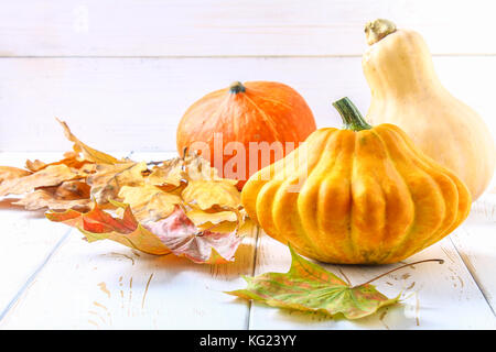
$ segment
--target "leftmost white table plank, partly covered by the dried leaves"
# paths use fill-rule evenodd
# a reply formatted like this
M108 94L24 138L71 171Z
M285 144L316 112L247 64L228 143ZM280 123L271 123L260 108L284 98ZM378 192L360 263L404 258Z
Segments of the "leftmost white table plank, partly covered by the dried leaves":
M26 158L55 161L56 153L0 153L0 165L23 167ZM68 229L50 223L44 211L12 206L13 197L0 197L0 318L22 287L47 260Z

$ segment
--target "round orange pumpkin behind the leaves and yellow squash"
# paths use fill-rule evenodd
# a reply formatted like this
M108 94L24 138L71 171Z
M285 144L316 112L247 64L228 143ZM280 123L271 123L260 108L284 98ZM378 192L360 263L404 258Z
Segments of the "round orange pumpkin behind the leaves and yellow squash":
M237 81L187 109L176 144L181 155L186 147L198 152L222 176L238 179L241 188L251 174L284 157L315 129L312 111L293 88Z

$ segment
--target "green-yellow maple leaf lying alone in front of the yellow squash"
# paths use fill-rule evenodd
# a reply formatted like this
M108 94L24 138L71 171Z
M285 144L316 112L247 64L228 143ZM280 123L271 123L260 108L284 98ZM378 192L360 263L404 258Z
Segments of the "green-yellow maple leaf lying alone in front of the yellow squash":
M330 316L342 314L346 319L364 318L399 300L400 295L388 298L370 284L352 287L333 273L299 256L291 246L290 251L292 261L288 273L244 277L247 288L226 294L272 307Z

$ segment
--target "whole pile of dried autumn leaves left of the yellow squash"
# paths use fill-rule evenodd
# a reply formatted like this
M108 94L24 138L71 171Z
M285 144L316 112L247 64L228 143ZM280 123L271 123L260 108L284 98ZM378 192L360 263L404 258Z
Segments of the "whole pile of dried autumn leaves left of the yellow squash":
M25 169L0 166L0 197L22 195L14 205L48 208L47 219L79 229L88 242L109 239L196 263L234 261L245 222L236 180L187 151L163 162L118 160L58 122L73 151L55 163L26 161Z

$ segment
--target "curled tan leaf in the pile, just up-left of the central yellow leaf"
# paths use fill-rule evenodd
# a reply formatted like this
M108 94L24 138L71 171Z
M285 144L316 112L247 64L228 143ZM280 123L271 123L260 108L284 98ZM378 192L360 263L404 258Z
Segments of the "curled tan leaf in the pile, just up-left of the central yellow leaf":
M141 186L144 183L143 172L148 169L147 163L97 164L95 174L87 177L91 186L91 197L98 204L107 204L116 199L123 186Z

